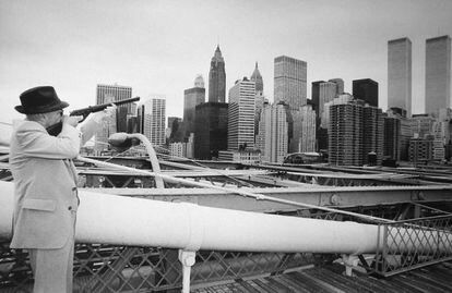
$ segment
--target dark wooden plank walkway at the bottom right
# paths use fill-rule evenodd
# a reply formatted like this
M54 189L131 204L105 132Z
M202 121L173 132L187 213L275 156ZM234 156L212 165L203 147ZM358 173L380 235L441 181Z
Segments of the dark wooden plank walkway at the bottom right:
M330 265L278 276L239 279L226 284L198 288L192 292L452 292L452 263L425 267L385 279L367 274L346 277L343 271L344 267Z

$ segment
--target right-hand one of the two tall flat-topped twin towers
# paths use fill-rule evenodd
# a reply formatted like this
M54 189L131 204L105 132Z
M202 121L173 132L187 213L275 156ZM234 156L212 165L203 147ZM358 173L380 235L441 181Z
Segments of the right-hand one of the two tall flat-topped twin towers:
M451 38L426 40L426 112L451 108Z

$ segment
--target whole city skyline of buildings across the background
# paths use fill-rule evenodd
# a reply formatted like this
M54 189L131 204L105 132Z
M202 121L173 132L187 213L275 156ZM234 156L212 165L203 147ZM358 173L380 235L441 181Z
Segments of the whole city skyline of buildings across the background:
M183 91L183 118L168 117L165 125L163 96L121 106L97 133L95 151L108 151L107 137L115 132L138 132L173 158L282 163L294 155L311 154L341 166L450 160L449 36L426 40L425 114L412 113L407 37L388 41L385 112L379 108L379 85L371 78L354 80L353 93L344 91L342 78L312 82L308 99L307 66L302 60L276 57L270 103L258 63L250 78L239 78L226 90L225 60L217 46L209 91L198 75L194 86ZM128 86L97 85L97 103L131 96Z

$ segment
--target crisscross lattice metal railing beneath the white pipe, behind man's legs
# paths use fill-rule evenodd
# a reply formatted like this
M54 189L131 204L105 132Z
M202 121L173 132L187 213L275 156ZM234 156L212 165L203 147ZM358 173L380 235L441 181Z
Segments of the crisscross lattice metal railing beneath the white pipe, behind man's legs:
M200 251L191 284L235 280L312 264L311 254ZM316 260L318 261L318 260ZM180 291L182 265L177 249L102 244L76 244L73 292ZM0 292L32 292L28 254L0 243Z

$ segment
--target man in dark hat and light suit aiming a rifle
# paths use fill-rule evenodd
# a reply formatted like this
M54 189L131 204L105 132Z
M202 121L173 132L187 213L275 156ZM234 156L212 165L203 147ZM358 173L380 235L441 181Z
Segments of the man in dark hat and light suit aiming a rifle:
M75 216L79 206L76 170L72 162L108 113L68 117L53 87L38 86L20 96L15 109L25 114L13 125L10 166L14 178L11 248L26 248L35 278L33 292L72 292ZM111 110L110 110L111 111ZM62 123L57 136L46 129Z

